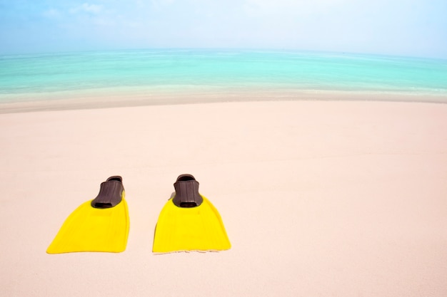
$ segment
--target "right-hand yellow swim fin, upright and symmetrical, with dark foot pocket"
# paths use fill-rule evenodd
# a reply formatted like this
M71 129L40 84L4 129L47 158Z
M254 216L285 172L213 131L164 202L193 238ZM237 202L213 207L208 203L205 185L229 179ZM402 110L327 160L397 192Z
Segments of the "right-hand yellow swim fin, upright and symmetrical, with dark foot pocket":
M154 253L221 251L231 248L217 209L199 194L199 182L182 174L174 183L176 194L161 210L156 225Z

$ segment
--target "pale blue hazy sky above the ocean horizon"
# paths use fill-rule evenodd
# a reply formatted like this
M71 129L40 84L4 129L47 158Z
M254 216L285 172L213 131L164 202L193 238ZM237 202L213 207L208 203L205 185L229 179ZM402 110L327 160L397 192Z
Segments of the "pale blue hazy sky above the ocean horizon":
M447 58L447 1L0 0L0 53L128 48Z

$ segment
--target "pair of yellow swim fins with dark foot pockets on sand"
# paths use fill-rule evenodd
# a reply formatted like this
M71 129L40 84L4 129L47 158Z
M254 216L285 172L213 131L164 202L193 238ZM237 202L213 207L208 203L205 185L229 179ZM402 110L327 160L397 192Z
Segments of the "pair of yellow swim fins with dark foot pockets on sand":
M221 216L213 204L199 194L199 182L191 174L181 174L174 188L174 197L161 209L152 251L230 249ZM95 199L81 204L70 214L46 252L124 251L129 236L129 211L124 198L122 178L109 177L101 183Z

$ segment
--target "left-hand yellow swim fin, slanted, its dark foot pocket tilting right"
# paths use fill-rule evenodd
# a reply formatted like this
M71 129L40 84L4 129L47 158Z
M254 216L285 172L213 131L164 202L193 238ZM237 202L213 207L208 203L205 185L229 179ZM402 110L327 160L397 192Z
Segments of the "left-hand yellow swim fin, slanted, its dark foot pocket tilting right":
M129 212L122 181L114 176L103 182L95 199L81 204L69 215L46 252L124 251Z

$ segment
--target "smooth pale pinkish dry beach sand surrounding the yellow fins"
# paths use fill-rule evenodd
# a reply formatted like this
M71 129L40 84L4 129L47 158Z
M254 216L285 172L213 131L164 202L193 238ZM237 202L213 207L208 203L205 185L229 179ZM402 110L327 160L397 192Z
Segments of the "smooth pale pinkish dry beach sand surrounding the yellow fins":
M0 115L1 296L447 296L447 104L295 101ZM182 173L232 249L151 252ZM46 254L111 175L120 254Z

